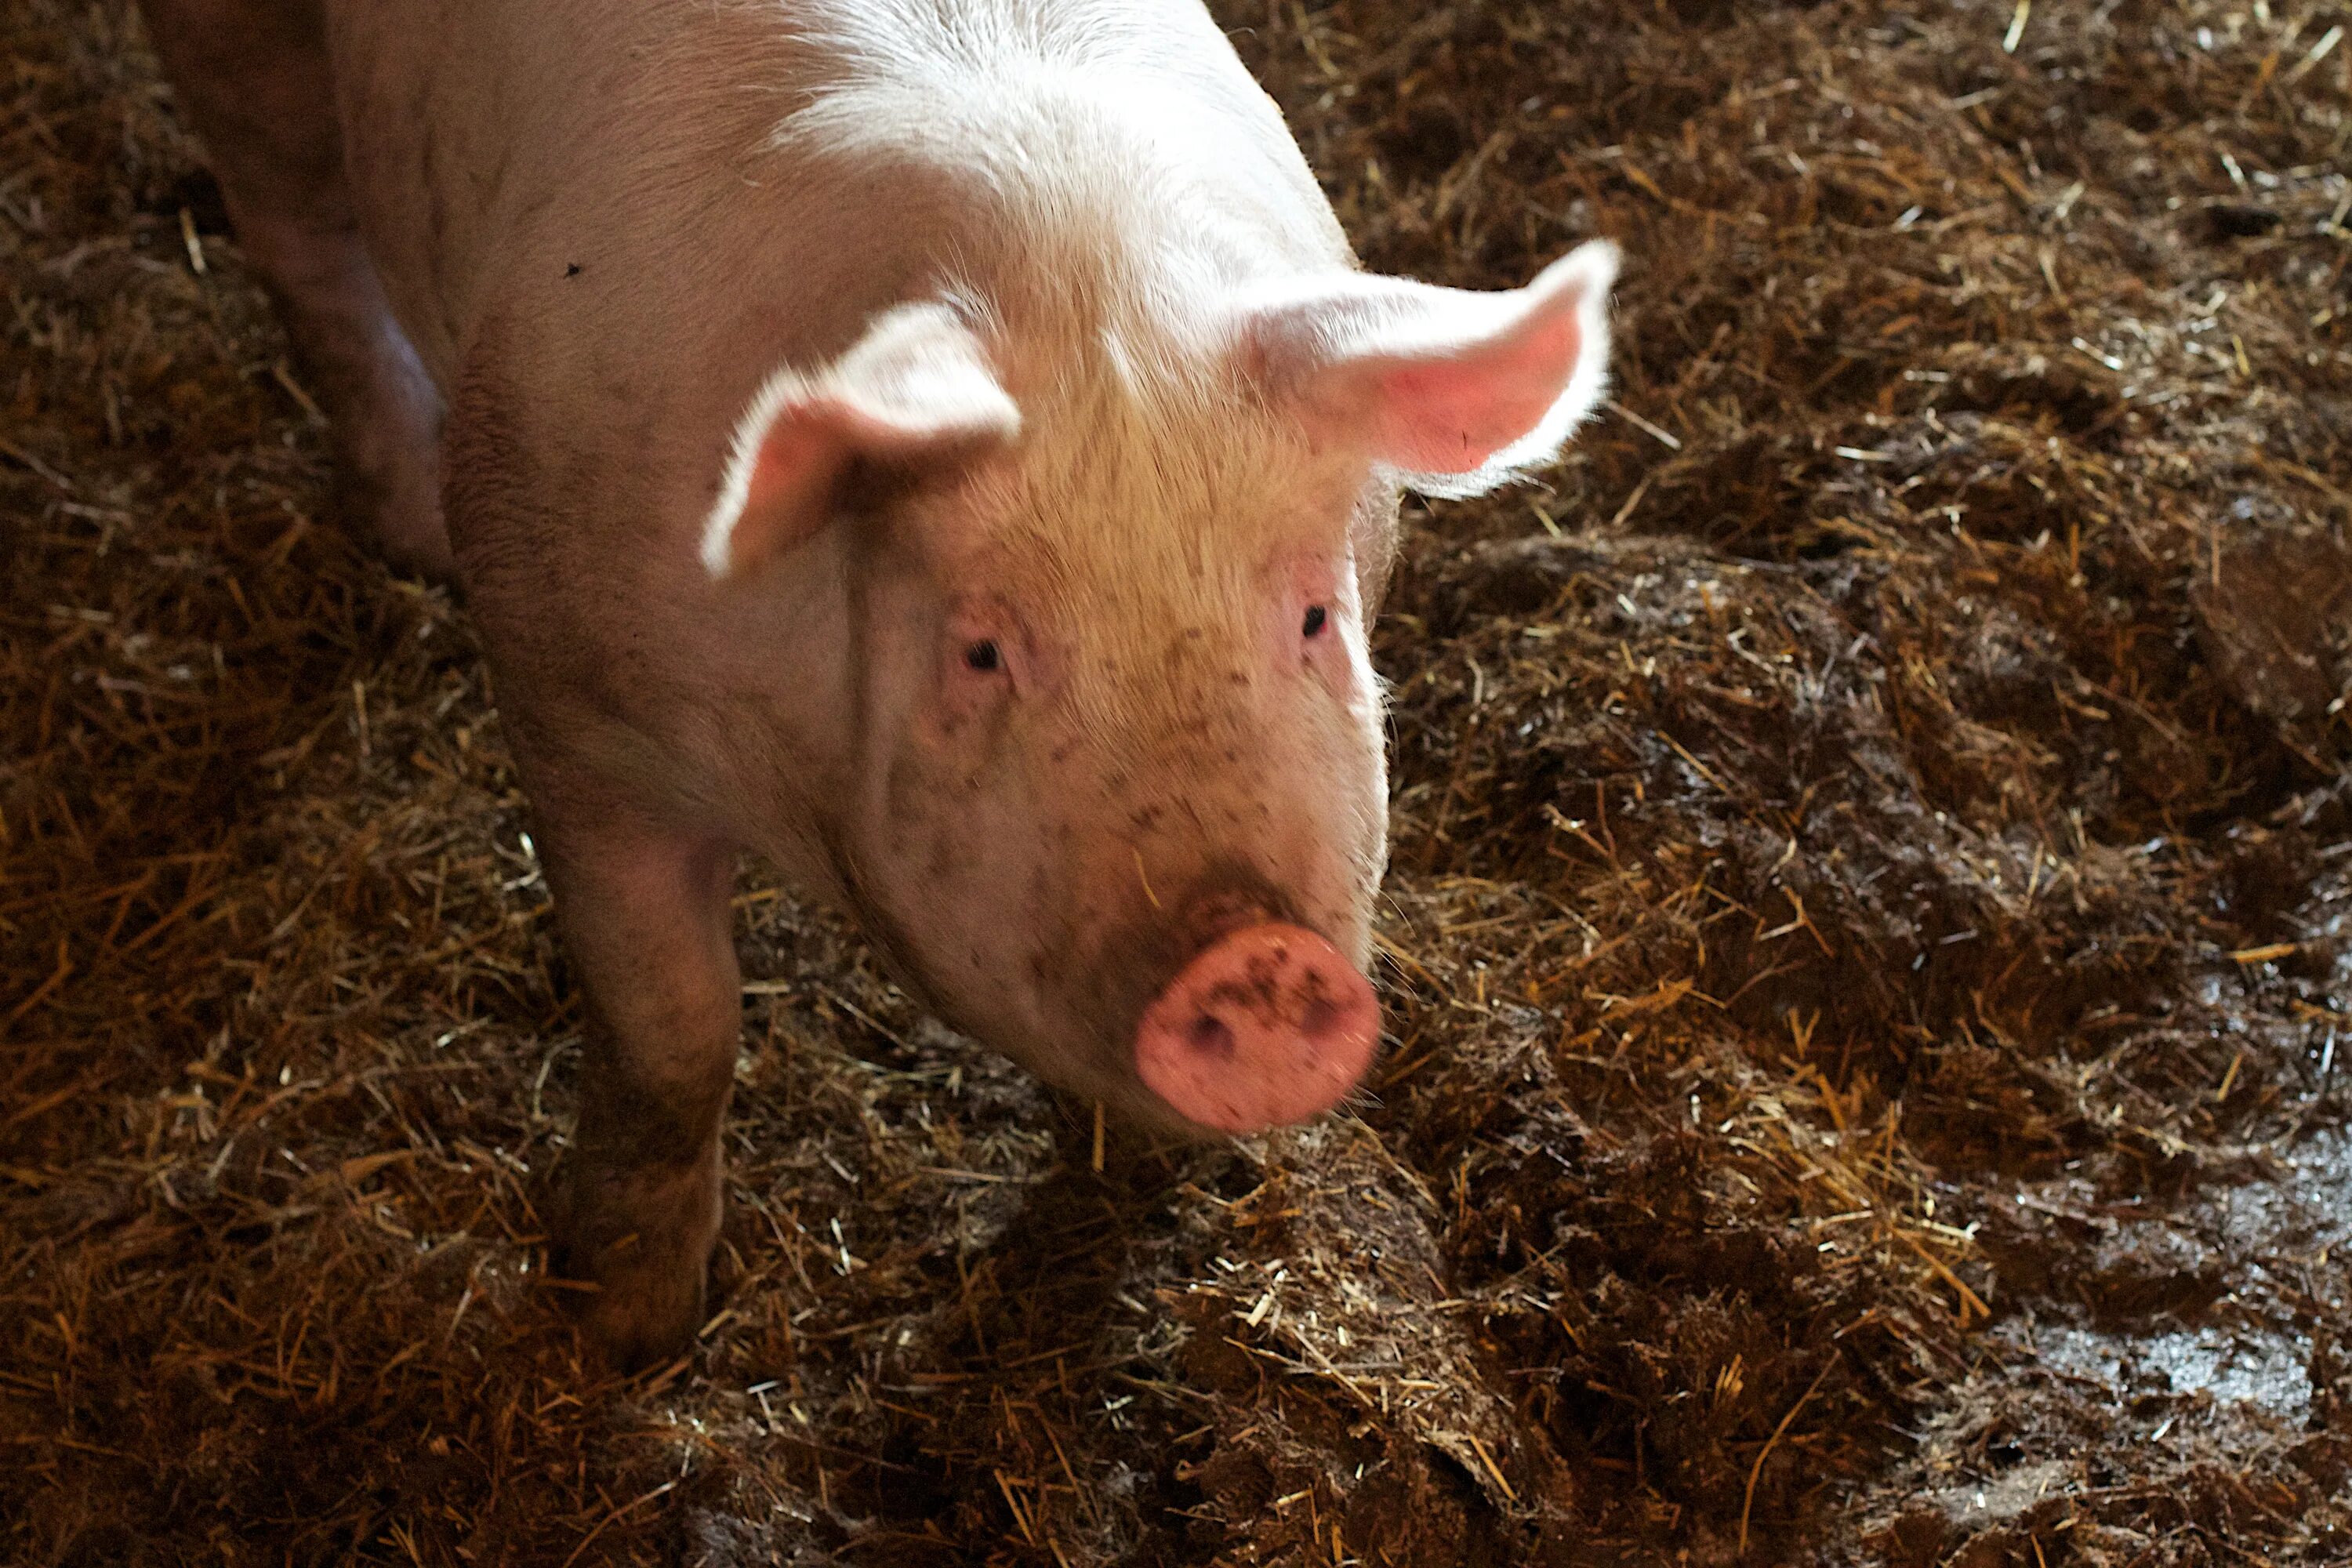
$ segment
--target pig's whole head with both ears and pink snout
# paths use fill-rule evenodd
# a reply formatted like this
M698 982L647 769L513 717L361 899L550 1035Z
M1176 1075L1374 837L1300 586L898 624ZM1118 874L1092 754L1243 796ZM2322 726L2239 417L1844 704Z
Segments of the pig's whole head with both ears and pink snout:
M1348 1095L1381 1032L1367 632L1397 491L1559 447L1599 400L1613 266L1338 275L1185 331L922 301L769 381L703 559L724 592L793 557L840 578L814 842L917 994L1164 1128Z

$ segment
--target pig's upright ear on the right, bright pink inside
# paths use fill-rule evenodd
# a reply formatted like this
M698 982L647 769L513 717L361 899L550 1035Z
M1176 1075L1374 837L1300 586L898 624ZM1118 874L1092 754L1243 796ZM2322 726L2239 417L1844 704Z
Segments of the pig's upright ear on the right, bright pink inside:
M1501 294L1327 282L1247 306L1244 362L1317 447L1475 496L1559 451L1602 400L1616 266L1595 240Z

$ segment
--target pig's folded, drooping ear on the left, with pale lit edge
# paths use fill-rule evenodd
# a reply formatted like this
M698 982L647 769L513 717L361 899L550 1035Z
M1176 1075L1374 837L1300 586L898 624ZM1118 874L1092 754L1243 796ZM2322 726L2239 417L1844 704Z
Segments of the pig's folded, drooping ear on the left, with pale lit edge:
M743 576L816 534L854 463L934 468L1018 430L1021 409L955 310L887 310L833 364L781 369L753 397L703 524L703 567Z

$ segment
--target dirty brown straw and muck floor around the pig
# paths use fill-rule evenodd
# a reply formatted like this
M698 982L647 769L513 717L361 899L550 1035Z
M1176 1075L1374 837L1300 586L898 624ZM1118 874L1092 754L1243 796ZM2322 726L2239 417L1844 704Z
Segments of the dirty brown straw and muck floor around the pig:
M1395 1039L1152 1152L748 870L720 1312L120 0L0 12L9 1563L2352 1559L2352 12L1235 0L1367 261L1625 244L1411 515Z

